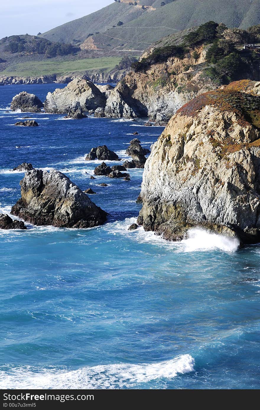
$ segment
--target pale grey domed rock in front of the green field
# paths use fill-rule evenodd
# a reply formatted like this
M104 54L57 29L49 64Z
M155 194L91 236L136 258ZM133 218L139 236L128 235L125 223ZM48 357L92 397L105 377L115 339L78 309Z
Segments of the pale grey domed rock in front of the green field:
M64 114L75 103L79 103L83 111L95 110L105 107L106 97L92 82L77 77L65 88L57 88L53 93L47 93L44 107L46 112Z

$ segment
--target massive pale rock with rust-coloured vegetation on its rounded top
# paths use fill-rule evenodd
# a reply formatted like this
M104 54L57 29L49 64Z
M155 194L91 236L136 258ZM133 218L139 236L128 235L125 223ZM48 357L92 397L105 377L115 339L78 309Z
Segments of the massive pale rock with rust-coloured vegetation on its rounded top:
M192 226L260 241L260 96L204 93L179 109L145 164L138 223L179 240Z

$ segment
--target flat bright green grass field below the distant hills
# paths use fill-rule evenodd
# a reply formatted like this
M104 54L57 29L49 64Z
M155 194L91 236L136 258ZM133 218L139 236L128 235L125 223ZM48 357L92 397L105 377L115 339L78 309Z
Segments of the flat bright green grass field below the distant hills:
M84 74L93 71L107 73L120 62L122 57L100 57L86 58L75 61L34 61L27 63L13 64L4 71L0 71L0 76L10 77L40 77L41 75L60 74Z

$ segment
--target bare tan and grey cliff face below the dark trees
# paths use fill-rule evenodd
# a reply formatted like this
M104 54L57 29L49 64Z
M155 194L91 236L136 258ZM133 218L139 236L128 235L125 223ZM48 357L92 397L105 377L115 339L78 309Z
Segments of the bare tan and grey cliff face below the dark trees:
M187 101L217 88L213 81L201 77L201 64L205 62L206 50L207 47L197 47L194 50L197 53L196 60L187 53L182 59L170 57L164 63L153 64L145 72L128 73L111 95L114 109L110 110L110 116L125 116L118 109L123 100L127 101L137 116L168 121ZM121 100L118 96L115 97L117 91L122 97Z

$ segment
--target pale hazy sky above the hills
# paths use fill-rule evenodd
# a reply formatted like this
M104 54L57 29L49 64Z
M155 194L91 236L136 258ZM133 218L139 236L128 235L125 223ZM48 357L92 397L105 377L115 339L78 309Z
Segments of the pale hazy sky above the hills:
M86 16L113 0L4 0L0 7L0 39L37 34Z

